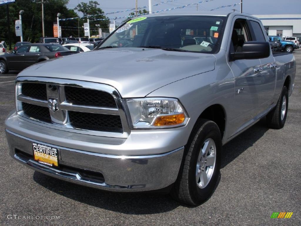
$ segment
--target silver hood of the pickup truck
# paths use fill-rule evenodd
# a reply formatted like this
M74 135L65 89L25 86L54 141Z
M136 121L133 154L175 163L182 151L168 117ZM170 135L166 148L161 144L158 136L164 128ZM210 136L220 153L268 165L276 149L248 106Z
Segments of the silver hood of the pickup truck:
M18 77L64 78L104 83L123 98L144 97L155 89L214 70L212 54L162 49L116 48L78 53L34 64ZM200 76L200 75L199 75Z

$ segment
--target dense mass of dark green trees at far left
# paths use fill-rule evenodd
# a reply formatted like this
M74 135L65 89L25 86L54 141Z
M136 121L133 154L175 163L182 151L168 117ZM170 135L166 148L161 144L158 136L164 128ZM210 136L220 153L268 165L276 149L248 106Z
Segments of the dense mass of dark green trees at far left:
M44 24L45 35L53 36L53 22L56 21L58 12L62 14L60 18L78 17L73 9L67 8L68 0L48 0L44 2ZM22 15L23 40L38 42L42 37L42 6L40 0L18 0L9 4L9 17L11 30L11 42L20 41L20 37L15 36L14 23L19 19L19 11L24 10ZM0 6L0 41L5 40L8 43L8 30L6 24L6 5ZM63 36L77 36L77 30L65 30L65 26L78 27L77 20L68 20L60 24L62 26ZM82 30L82 29L81 29Z

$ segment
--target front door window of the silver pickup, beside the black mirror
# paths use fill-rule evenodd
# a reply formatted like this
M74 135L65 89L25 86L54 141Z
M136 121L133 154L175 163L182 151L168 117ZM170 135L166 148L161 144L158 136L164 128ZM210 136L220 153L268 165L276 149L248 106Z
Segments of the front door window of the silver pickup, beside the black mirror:
M231 52L241 52L245 42L250 41L246 20L238 19L234 22L231 35Z

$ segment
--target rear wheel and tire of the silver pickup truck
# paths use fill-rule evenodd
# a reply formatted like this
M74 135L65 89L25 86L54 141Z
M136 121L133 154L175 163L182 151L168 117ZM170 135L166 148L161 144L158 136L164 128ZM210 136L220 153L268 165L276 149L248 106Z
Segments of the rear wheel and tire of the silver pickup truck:
M283 86L276 107L268 113L266 121L268 127L272 129L281 129L284 127L288 108L288 91L287 87Z

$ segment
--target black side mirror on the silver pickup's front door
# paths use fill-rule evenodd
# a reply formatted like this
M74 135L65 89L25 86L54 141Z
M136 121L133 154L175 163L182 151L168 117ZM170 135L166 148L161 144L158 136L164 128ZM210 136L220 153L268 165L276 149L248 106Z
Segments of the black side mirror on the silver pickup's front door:
M241 52L230 53L231 61L241 59L261 59L270 56L271 46L268 42L245 42Z

